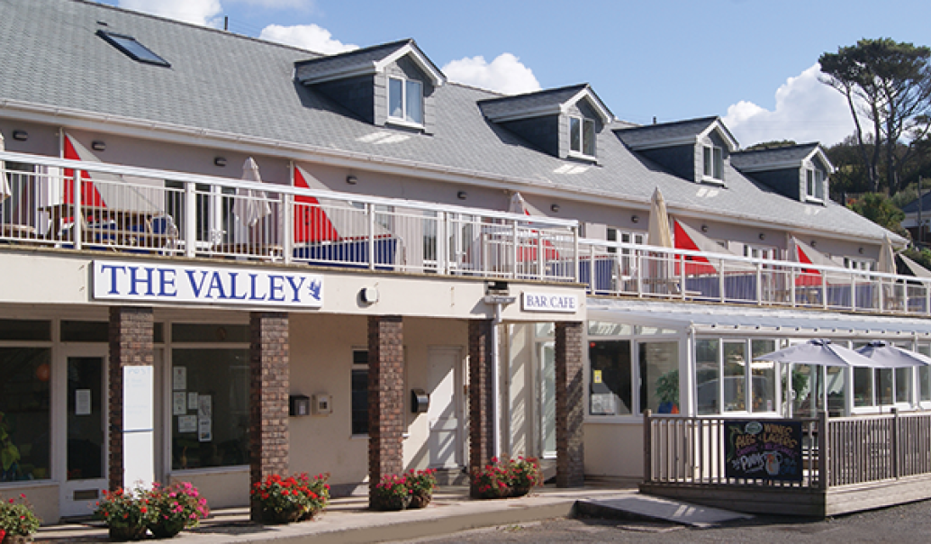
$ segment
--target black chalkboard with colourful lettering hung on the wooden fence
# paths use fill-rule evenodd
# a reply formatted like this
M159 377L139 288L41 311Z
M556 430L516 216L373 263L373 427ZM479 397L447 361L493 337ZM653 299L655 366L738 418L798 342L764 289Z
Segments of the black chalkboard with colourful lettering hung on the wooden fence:
M802 481L801 421L724 421L728 478Z

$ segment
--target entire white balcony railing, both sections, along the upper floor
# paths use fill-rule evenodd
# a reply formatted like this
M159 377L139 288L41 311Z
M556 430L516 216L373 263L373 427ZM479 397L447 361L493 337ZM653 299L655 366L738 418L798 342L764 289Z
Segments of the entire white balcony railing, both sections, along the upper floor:
M583 239L574 220L17 153L0 153L0 161L0 181L7 181L0 184L0 240L7 243L578 281L600 295L931 315L928 279Z

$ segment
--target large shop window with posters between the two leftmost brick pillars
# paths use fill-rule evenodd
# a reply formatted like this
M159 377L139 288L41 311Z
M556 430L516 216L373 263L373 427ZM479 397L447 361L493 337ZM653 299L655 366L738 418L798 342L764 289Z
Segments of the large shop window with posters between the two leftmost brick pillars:
M249 464L249 350L171 351L171 468Z

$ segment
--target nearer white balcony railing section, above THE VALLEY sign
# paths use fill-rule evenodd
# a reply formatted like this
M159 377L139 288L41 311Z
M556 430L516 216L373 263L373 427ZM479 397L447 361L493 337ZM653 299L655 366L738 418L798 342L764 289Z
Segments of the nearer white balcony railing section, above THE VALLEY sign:
M0 153L0 240L573 281L578 222Z

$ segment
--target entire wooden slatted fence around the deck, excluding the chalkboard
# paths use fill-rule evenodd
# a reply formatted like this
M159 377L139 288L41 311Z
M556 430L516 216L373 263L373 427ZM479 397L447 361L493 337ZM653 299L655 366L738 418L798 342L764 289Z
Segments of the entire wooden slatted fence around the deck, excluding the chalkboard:
M821 413L817 418L793 420L803 425L801 482L727 478L724 420L647 415L643 426L644 481L672 486L826 489L931 474L931 414L894 411L829 418Z

